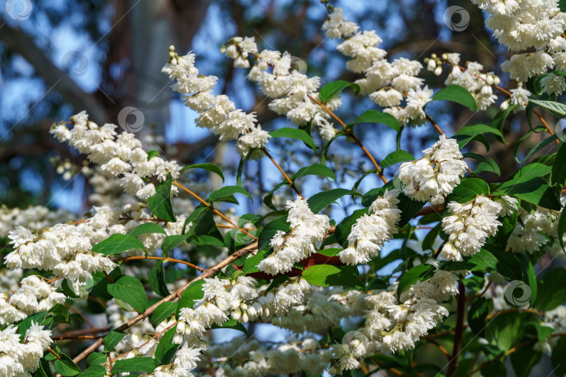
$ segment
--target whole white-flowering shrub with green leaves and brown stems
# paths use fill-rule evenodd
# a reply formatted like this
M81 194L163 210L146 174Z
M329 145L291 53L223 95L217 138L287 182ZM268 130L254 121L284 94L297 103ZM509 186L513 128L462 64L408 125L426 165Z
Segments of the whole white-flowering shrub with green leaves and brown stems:
M198 112L196 126L235 140L241 156L238 184L206 199L184 172L205 169L224 179L212 163L182 167L85 112L53 125L57 140L92 163L96 205L82 217L2 208L9 251L0 270L1 376L504 375L507 356L526 376L545 353L565 375L566 270L546 267L566 256L566 147L535 107L566 117L566 105L556 101L566 89L566 13L550 0L472 2L509 49L502 69L512 89L477 62L460 66L453 52L424 59L434 75L447 72L445 87L433 90L419 77L421 61L388 59L375 31L361 30L328 1L321 28L350 59L355 82L321 87L319 77L291 68L287 52L261 50L253 37L231 38L222 53L249 70L270 110L295 125L271 133L228 96L213 94L217 77L201 75L193 53L170 47L163 73ZM340 96L351 94L368 96L381 110L347 124L335 111ZM500 111L492 125L448 137L426 110L447 100L477 111L499 101ZM548 135L510 179L488 184L479 176L499 175L496 161L462 149L472 141L488 148L486 134L505 143L506 119L523 111L544 125L529 134ZM397 140L416 126L433 126L440 136L421 158L398 142L377 161L356 124L387 126ZM321 147L313 154L319 163L285 172L270 154L272 138ZM305 198L296 184L301 177L335 179L326 157L337 138L355 142L372 163L358 178L376 175L383 185L361 192L358 181ZM532 158L546 146L558 151ZM247 161L261 158L282 182L254 198L240 176ZM386 177L384 166L396 163L396 174ZM284 205L284 194L275 193L281 187L293 192ZM235 194L263 202L261 212L222 210L238 203ZM358 209L333 219L331 208L345 197L358 200ZM385 253L391 245L399 247ZM539 260L545 265L537 267ZM85 313L106 321L92 323ZM259 323L293 335L281 343L218 343L210 335L248 334ZM69 348L71 339L85 344ZM424 360L425 353L444 360Z

